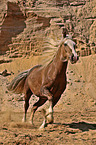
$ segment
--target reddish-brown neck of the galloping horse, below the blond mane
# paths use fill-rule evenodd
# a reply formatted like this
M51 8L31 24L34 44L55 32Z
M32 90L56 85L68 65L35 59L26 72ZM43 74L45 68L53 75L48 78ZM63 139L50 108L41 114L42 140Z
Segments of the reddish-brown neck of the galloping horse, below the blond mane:
M66 72L68 61L67 60L64 61L64 59L62 60L62 55L63 55L62 51L64 51L64 48L61 46L58 49L56 56L54 57L53 63L57 67L58 71L63 69L63 71Z

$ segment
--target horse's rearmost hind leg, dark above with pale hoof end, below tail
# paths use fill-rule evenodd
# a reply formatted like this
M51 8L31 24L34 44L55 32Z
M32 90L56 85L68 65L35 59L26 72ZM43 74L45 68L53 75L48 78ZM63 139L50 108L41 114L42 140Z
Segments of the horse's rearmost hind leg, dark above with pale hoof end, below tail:
M30 99L31 95L32 95L31 90L28 90L25 93L24 117L22 119L22 122L26 122L26 114L27 114L27 110L28 110L28 107L29 107L29 99Z

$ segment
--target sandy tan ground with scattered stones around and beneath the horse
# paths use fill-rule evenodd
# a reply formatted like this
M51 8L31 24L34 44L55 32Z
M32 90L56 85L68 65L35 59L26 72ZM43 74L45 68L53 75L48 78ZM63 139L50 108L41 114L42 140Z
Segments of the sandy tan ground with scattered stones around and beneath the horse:
M44 130L38 130L43 121L42 107L35 114L35 126L28 123L37 98L31 98L27 122L22 123L23 95L6 89L6 82L19 71L37 63L36 57L0 64L1 72L7 69L14 73L0 76L0 145L96 145L96 55L80 58L74 65L69 63L67 89L54 107L54 123Z

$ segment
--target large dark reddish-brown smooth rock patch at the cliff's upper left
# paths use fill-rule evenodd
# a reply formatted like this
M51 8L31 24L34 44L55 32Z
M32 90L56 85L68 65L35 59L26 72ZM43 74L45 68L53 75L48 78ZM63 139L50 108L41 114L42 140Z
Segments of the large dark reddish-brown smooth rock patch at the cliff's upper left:
M26 28L25 16L23 15L17 3L8 2L7 12L1 26L0 33L0 53L3 54L9 49L8 45L12 43L12 37L16 37Z

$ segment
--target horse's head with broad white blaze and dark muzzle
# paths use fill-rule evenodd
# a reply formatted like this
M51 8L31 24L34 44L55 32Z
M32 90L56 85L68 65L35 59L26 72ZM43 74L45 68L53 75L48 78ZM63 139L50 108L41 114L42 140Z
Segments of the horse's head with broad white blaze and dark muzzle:
M72 40L72 37L66 36L64 39L64 57L70 59L71 63L76 63L79 60L79 56L75 51L76 43Z

